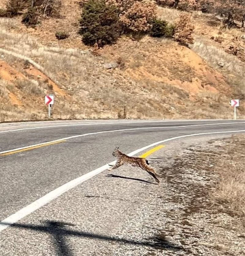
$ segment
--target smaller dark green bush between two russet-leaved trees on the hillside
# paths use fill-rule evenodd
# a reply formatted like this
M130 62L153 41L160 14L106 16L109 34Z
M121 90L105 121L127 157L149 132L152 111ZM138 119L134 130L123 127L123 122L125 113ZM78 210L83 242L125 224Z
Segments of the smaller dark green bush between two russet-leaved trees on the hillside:
M169 25L166 21L153 20L152 28L149 32L149 35L152 37L173 37L174 26Z

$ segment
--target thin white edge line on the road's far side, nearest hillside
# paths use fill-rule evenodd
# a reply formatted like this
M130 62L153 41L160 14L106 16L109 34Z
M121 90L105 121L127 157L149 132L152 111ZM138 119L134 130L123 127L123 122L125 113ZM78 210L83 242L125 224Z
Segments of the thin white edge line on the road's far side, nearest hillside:
M21 128L21 129L14 129L14 130L6 130L1 131L0 133L5 132L17 132L17 131L24 131L24 130L33 130L33 129L44 129L44 128L55 128L55 127L72 127L72 126L85 126L85 125L104 125L104 124L142 124L142 123L162 123L162 122L198 122L198 121L233 121L233 120L159 120L159 121L129 121L129 122L106 122L106 123L89 123L89 124L60 124L60 125L47 125L47 126L39 126L39 127L29 127L29 128ZM243 121L243 120L241 120ZM231 122L233 124L233 122Z

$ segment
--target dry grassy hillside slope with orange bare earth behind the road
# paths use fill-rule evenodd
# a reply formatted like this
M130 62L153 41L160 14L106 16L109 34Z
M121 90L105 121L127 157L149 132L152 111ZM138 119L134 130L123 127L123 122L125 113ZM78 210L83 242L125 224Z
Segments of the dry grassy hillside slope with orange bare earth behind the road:
M244 65L237 57L231 56L240 72L236 84L231 67L217 70L206 52L200 57L164 38L122 37L92 54L76 33L79 9L74 3L63 1L63 18L43 20L36 30L21 25L19 17L0 19L1 121L47 118L46 93L55 95L54 119L232 118L232 97L242 100L238 116L243 117ZM55 39L59 26L70 30L68 39ZM200 40L202 35L195 36ZM222 49L217 53L228 56Z

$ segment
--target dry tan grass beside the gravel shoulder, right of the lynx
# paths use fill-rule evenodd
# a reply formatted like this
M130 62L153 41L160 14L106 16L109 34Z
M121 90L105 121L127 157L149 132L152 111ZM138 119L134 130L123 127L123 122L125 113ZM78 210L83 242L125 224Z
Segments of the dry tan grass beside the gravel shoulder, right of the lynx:
M245 136L236 135L225 141L227 145L215 168L220 181L211 198L222 203L224 212L245 217Z

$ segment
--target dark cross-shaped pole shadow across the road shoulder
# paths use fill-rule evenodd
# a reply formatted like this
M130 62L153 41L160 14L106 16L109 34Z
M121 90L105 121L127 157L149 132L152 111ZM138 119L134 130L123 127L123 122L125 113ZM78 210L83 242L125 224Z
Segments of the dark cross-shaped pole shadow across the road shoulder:
M66 238L69 236L81 237L81 238L91 238L91 239L98 239L98 240L105 240L105 241L114 241L122 244L130 244L136 246L148 246L152 249L161 249L161 250L185 250L182 246L175 245L161 235L147 238L149 241L138 241L126 238L118 238L118 237L111 237L102 234L93 234L84 231L76 231L70 230L67 226L75 226L71 223L64 223L59 221L50 221L45 220L42 221L43 225L32 225L32 224L10 224L10 223L2 223L11 225L13 228L19 229L26 229L26 230L35 230L38 232L44 232L50 234L53 239L53 243L55 245L56 254L57 255L69 255L72 256L72 248L70 248Z

